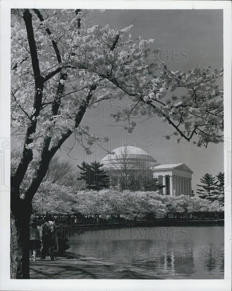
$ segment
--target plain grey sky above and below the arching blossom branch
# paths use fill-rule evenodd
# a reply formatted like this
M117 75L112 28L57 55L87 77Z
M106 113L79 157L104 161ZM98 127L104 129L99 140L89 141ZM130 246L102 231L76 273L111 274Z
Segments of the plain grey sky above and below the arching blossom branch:
M122 29L131 23L130 33L143 39L155 38L152 49L163 50L161 55L170 70L191 70L198 66L223 67L223 11L222 10L98 10L91 11L89 26L109 24L112 28ZM173 50L178 50L176 51ZM179 52L182 51L182 59ZM175 54L173 57L172 54ZM222 81L220 81L222 86ZM174 129L154 116L148 120L139 121L133 133L128 133L125 123L114 123L110 114L118 111L127 100L113 100L100 104L96 109L88 109L82 120L82 125L88 125L90 132L96 136L108 136L109 141L102 146L106 150L114 150L125 144L134 145L147 151L161 164L185 163L193 170L192 185L196 184L205 173L213 176L224 172L223 149L220 145L209 144L207 148L197 147L192 141L181 139L175 143L175 136L165 139ZM143 118L144 119L144 118ZM67 143L72 147L74 138L71 136ZM83 160L100 161L107 152L99 147L92 147L93 154L87 156L82 148L75 147L69 153L74 164ZM61 159L69 159L66 151L57 153Z

